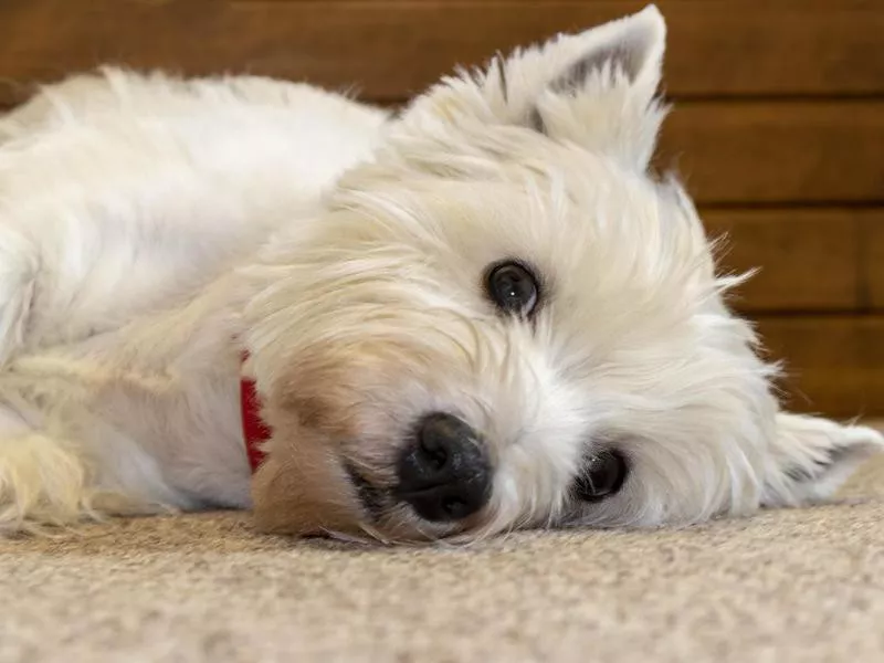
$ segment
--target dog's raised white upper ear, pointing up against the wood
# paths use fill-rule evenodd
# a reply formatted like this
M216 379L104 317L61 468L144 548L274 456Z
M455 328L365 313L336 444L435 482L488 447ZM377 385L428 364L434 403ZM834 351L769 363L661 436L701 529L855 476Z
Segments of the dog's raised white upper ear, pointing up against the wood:
M507 124L578 143L629 167L648 167L665 112L657 101L666 24L653 4L497 57L445 78L407 113L452 124Z

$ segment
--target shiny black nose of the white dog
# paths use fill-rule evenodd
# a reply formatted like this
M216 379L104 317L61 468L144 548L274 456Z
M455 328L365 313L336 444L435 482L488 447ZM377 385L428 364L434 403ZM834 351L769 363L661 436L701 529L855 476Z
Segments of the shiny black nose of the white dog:
M444 412L424 417L399 460L397 495L434 522L460 520L491 496L491 465L475 431Z

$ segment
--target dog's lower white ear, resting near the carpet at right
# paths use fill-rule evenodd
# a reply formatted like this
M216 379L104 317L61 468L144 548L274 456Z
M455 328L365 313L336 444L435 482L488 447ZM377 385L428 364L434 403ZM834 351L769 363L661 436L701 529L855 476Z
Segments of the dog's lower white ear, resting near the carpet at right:
M799 506L831 497L856 467L884 452L884 436L862 425L780 413L765 480L765 506Z

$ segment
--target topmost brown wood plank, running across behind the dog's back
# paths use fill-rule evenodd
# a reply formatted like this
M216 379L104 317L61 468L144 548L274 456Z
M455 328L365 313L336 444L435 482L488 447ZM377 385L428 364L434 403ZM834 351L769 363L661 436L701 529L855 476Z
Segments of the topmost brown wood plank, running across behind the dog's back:
M644 0L3 0L0 81L56 78L115 62L189 74L249 71L367 97L411 96L478 64ZM884 10L867 0L661 0L674 96L884 93ZM812 6L812 7L811 7Z

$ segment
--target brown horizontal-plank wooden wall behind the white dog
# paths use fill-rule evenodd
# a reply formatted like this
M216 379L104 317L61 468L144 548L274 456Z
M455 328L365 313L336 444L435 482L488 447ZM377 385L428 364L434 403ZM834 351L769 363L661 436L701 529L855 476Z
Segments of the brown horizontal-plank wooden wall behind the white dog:
M0 0L0 104L104 62L251 72L398 103L455 63L632 0ZM884 1L660 0L675 165L792 403L884 414Z

